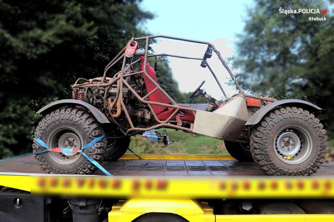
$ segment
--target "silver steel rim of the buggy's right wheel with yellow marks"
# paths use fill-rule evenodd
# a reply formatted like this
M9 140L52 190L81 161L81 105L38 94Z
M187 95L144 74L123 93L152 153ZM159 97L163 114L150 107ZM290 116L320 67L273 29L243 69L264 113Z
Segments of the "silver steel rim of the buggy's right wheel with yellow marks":
M284 163L303 163L312 153L312 139L308 131L298 125L288 125L275 136L274 151Z

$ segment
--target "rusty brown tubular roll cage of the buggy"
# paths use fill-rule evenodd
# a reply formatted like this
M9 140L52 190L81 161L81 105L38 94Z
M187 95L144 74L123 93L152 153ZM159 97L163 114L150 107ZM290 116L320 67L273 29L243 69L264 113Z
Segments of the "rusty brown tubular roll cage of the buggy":
M206 57L204 56L203 58L195 58L195 57L187 57L187 56L180 56L180 55L171 55L171 54L166 54L166 53L161 53L161 54L150 54L148 55L148 45L149 45L149 40L150 39L156 39L156 38L165 38L165 39L173 39L173 40L179 40L179 41L184 41L184 42L192 42L192 43L198 43L198 44L204 44L204 45L208 45L208 48L210 47L210 49L212 49L216 55L218 56L219 60L221 61L222 65L225 67L225 69L228 71L230 77L232 78L234 84L236 85L236 87L238 88L239 92L237 93L238 95L243 95L246 97L252 97L252 98L258 98L261 100L266 100L266 101L275 101L275 99L273 98L268 98L268 97L259 97L259 96L255 96L255 95L249 95L249 94L244 94L240 85L238 84L238 82L235 79L235 76L233 75L232 71L230 70L230 68L228 67L228 65L226 64L225 60L222 58L220 52L215 48L215 46L210 43L210 42L205 42L205 41L197 41L197 40L191 40L191 39L185 39L185 38L178 38L178 37L172 37L172 36L165 36L165 35L154 35L154 36L146 36L146 37L139 37L139 38L133 38L130 41L142 41L145 40L145 51L144 51L144 65L143 65L143 70L138 71L138 72L132 72L132 73L128 73L125 74L124 70L125 70L125 65L126 65L126 56L125 56L125 49L126 47L124 47L109 63L108 65L105 67L104 69L104 73L103 73L103 77L98 77L98 78L94 78L91 79L89 82L85 82L85 83L81 83L78 84L78 81L80 78L78 79L74 85L72 85L72 88L75 87L97 87L97 88L101 88L103 87L103 89L105 90L105 95L104 98L107 97L107 93L108 90L112 87L112 85L117 81L117 92L116 92L116 97L114 99L113 102L111 102L110 100L108 101L108 105L109 107L106 107L106 102L104 102L104 108L108 110L110 117L112 119L112 121L120 127L121 132L125 135L128 136L130 132L132 131L148 131L148 130L153 130L153 129L157 129L157 128L161 128L161 127L168 127L168 128L173 128L173 129L178 129L178 130L183 130L186 132L192 132L192 128L193 128L193 124L190 125L190 128L186 128L186 127L181 127L178 125L173 125L170 124L169 121L172 119L173 116L175 116L179 110L190 110L193 112L194 116L196 114L196 109L194 108L190 108L190 107L185 107L185 106L180 106L178 105L174 99L168 94L166 93L161 86L159 86L159 84L157 82L155 82L153 80L153 78L147 73L146 71L146 63L147 63L147 58L148 57L156 57L157 56L170 56L170 57L177 57L177 58L183 58L183 59L194 59L194 60L201 60L202 62L204 60L206 60ZM118 63L121 59L123 59L123 63L122 63L122 68L120 72L117 72L113 78L108 78L107 77L107 72L108 70L115 65L116 63ZM136 61L130 63L130 65L135 65L140 61L140 59L137 59ZM206 62L206 61L205 61ZM225 97L227 97L222 85L220 84L217 76L215 75L215 73L213 72L213 70L211 69L211 67L209 66L209 64L206 62L207 67L209 68L211 74L213 75L213 77L215 78L217 84L219 85L219 88L221 89L222 93L224 94ZM145 96L141 97L131 86L130 84L128 84L126 82L126 80L124 79L124 77L128 77L128 76L132 76L132 75L137 75L137 74L144 74L156 87L148 92ZM87 79L84 79L87 80ZM108 82L106 83L106 81L108 80ZM87 80L88 81L88 80ZM148 105L149 109L151 110L151 113L154 117L154 120L158 123L157 125L148 127L148 128L138 128L138 127L134 127L130 115L126 109L126 106L124 104L123 101L123 85L125 85L135 96L136 98L141 102L141 103L145 103ZM155 92L156 90L160 90L169 100L170 103L161 103L161 102L155 102L155 101L149 101L149 100L145 100L149 95L151 95L153 92ZM112 114L111 110L115 107L115 105L117 106L117 113ZM166 119L165 121L160 121L156 114L154 113L152 106L151 105L160 105L160 106L166 106L166 107L170 107L170 108L175 108L175 111L169 116L168 119ZM129 122L130 125L130 129L125 129L123 128L114 118L117 118L120 116L121 113L121 107L124 110L125 116L127 118L127 121ZM126 131L124 131L126 130Z

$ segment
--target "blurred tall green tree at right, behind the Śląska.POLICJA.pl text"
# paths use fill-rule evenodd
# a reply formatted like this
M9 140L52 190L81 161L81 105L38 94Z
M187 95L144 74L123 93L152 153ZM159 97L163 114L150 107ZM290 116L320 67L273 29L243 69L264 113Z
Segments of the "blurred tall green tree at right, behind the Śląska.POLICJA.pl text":
M280 14L279 9L328 9L317 1L262 1L248 9L239 35L234 66L244 88L273 96L295 97L324 108L324 124L334 130L333 18L327 15ZM321 11L320 11L321 12ZM327 21L309 21L326 17Z

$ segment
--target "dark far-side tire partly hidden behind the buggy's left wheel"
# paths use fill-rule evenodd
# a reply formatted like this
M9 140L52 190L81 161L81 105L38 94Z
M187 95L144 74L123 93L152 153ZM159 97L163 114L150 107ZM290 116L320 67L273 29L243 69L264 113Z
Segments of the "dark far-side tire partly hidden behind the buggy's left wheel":
M130 137L108 140L104 161L116 161L121 158L130 145Z

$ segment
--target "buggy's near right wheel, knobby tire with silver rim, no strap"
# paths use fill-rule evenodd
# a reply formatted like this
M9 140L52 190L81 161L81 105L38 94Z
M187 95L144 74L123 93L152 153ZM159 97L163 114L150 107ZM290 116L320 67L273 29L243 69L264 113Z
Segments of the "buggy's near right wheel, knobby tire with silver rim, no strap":
M311 175L325 158L325 134L307 110L279 107L253 130L250 152L267 175Z

